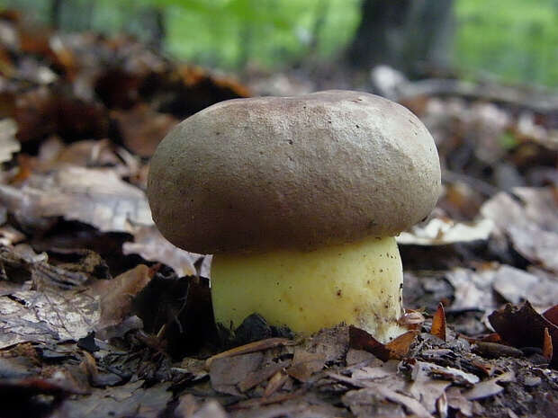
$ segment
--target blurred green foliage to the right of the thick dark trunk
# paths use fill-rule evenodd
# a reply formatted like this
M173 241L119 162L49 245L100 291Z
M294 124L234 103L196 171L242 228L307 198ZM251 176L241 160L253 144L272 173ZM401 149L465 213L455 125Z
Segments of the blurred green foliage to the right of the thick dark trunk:
M455 15L456 67L558 85L556 0L459 0Z

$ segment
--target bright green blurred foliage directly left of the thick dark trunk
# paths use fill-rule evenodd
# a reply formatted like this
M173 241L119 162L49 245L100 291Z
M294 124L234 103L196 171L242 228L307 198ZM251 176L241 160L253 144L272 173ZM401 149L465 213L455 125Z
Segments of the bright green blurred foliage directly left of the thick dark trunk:
M331 58L351 39L360 0L157 0L168 51L217 67L277 67L305 54ZM201 5L202 3L202 5Z

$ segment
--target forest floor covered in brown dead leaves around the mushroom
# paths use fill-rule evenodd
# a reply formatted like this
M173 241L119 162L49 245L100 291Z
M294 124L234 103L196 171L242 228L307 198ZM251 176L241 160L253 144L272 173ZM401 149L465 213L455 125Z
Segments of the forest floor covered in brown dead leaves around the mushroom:
M558 416L558 95L389 68L239 82L128 38L0 28L0 417ZM415 325L385 345L217 330L209 260L151 220L149 156L212 103L331 88L401 102L436 140L443 195L398 237Z

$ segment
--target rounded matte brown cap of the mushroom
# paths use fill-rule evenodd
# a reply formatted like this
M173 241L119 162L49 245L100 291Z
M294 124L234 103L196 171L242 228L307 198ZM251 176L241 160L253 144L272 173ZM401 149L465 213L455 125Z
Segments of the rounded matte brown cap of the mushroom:
M422 122L349 91L217 103L168 134L148 175L157 227L195 253L395 236L428 216L439 191Z

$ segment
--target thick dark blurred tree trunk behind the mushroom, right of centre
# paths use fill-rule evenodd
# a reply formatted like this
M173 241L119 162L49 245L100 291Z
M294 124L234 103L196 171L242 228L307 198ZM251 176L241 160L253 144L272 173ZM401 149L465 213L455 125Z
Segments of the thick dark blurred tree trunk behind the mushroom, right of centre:
M379 64L409 76L448 67L455 21L453 0L364 0L362 20L347 49L350 67Z

